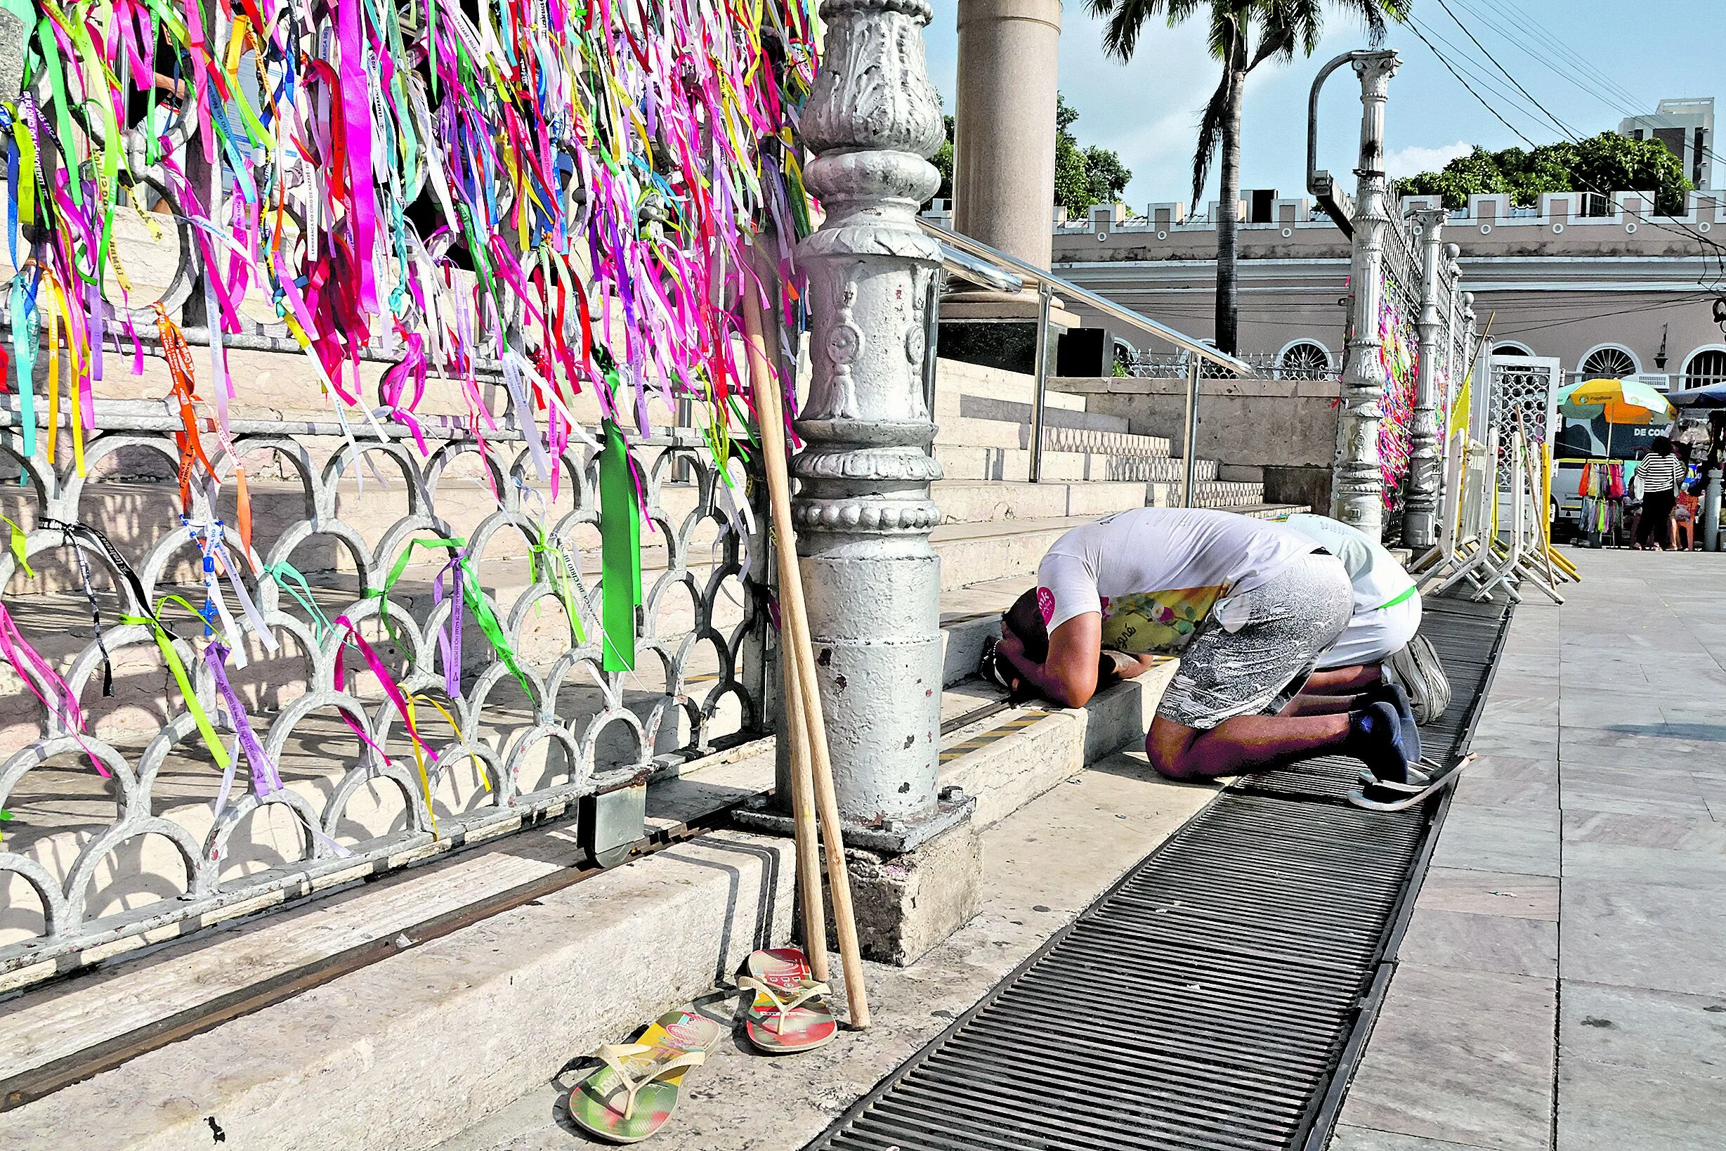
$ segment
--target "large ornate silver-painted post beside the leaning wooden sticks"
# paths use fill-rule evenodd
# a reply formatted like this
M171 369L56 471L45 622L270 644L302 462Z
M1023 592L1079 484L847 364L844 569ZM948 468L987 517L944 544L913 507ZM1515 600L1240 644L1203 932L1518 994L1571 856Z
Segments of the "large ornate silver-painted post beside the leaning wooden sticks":
M809 273L813 378L792 461L797 554L828 720L839 813L898 835L937 820L941 561L929 531L941 468L923 399L925 316L941 264L917 226L944 138L923 69L927 0L827 0L803 136L827 217ZM860 842L870 842L865 835Z

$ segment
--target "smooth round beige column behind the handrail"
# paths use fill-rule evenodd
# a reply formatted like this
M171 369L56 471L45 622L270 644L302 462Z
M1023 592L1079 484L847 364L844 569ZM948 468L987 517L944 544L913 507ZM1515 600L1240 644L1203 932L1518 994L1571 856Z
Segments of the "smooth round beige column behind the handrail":
M960 0L953 226L1037 267L1055 212L1060 0Z

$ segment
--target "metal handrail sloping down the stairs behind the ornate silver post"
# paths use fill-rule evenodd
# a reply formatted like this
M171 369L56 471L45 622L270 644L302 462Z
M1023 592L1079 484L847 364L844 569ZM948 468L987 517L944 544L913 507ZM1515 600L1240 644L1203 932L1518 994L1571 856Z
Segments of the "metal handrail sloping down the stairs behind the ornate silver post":
M1043 271L1034 264L1027 264L1022 259L1011 257L999 248L992 248L980 240L972 240L970 236L949 231L941 224L934 224L927 219L918 219L923 231L941 242L941 261L942 271L953 271L973 283L986 283L989 286L1001 285L1010 280L1017 280L1018 285L998 288L1017 292L1027 283L1037 285L1037 354L1036 366L1032 373L1036 376L1036 392L1030 402L1030 481L1043 481L1043 416L1044 400L1048 392L1049 378L1049 307L1058 290L1063 297L1079 300L1086 307L1103 312L1110 319L1122 323L1136 331L1143 331L1156 340L1172 343L1177 349L1187 352L1187 392L1186 392L1186 426L1181 435L1181 454L1182 454L1182 483L1181 483L1181 506L1194 506L1194 490L1198 487L1198 388L1203 362L1210 361L1219 368L1225 368L1236 376L1257 376L1258 373L1243 359L1220 352L1208 343L1194 340L1184 331L1175 331L1167 324L1160 324L1148 316L1141 316L1131 307L1122 307L1113 300L1091 292L1089 288L1080 288L1072 280L1061 280L1060 276ZM953 255L968 257L972 266L980 266L977 271L968 271L968 266L960 266ZM927 324L929 336L925 347L929 354L923 357L923 397L929 404L930 414L935 411L935 333L939 330L939 300L941 300L941 276L930 280L929 288L929 311Z

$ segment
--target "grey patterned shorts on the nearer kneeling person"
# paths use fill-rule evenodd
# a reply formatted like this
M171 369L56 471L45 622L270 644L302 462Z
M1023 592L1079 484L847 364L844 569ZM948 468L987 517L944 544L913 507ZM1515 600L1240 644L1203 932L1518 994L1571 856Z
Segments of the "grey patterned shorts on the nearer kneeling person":
M1343 561L1301 556L1269 583L1234 597L1229 611L1246 621L1229 632L1215 609L1205 618L1156 714L1210 730L1234 716L1282 711L1348 626L1353 588Z

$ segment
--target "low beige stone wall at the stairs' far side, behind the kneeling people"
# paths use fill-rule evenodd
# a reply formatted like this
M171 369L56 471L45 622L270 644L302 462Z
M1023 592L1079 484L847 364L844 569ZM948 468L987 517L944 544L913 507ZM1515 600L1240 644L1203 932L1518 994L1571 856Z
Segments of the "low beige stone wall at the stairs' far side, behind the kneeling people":
M1134 435L1162 435L1181 454L1186 380L1055 378L1049 387L1086 397L1086 411L1124 416ZM1334 380L1206 380L1198 402L1198 456L1229 480L1263 480L1277 504L1329 506L1336 454Z

